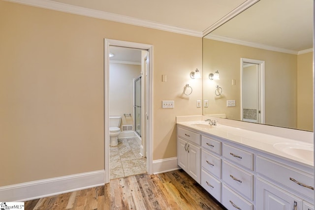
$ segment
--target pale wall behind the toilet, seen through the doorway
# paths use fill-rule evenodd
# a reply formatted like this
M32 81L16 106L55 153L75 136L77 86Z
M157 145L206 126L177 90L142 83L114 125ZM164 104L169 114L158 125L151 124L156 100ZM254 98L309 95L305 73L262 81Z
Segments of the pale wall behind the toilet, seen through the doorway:
M141 74L141 65L110 63L109 69L109 115L121 116L121 125L132 125L133 79Z

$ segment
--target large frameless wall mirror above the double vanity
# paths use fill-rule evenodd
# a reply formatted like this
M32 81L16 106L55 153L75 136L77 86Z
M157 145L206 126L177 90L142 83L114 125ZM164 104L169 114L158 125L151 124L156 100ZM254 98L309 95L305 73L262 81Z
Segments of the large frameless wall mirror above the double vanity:
M203 100L204 115L313 131L313 0L259 0L205 35Z

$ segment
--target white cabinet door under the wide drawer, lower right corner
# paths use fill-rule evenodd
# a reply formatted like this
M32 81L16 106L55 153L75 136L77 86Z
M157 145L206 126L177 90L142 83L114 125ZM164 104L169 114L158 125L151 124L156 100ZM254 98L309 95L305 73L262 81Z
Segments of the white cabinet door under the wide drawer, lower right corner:
M256 210L302 210L302 199L257 178Z

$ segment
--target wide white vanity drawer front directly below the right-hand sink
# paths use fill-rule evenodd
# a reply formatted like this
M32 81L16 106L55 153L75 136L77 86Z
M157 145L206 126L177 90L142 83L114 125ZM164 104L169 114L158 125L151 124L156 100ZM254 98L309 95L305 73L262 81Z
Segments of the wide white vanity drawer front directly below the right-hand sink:
M314 187L313 176L259 155L257 155L256 162L257 173L314 199L314 188L310 189Z

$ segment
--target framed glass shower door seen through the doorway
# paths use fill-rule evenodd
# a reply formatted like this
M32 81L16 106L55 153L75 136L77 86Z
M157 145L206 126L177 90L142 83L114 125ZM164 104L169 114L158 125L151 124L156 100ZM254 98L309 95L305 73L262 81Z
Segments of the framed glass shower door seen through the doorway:
M141 137L141 76L134 80L134 130Z

